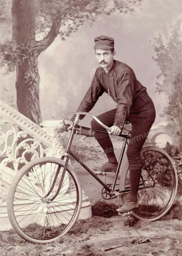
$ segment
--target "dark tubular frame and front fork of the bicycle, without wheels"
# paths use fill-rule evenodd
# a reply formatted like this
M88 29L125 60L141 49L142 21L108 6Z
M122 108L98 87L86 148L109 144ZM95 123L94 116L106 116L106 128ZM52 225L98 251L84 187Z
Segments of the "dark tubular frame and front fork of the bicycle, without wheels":
M91 114L90 114L91 115ZM68 166L68 161L69 161L69 155L72 156L78 163L81 164L81 166L83 166L87 172L89 172L105 189L106 191L108 191L108 194L112 195L112 199L116 198L117 196L119 196L120 193L123 193L123 192L129 192L129 188L123 190L123 191L118 191L118 190L115 190L115 184L116 184L116 181L117 181L117 177L118 177L118 174L119 174L119 169L120 169L120 166L121 166L121 162L122 162L122 159L123 159L123 155L124 155L124 152L125 152L125 147L126 147L126 144L128 144L127 140L130 138L129 134L130 132L128 132L128 134L119 134L118 136L119 137L123 137L124 138L124 142L123 142L123 146L122 146L122 150L121 150L121 154L119 156L119 161L118 161L118 166L117 166L117 170L115 172L115 176L114 176L114 181L113 181L113 184L112 184L112 188L109 188L100 178L98 178L98 176L96 174L94 174L94 172L92 172L71 150L70 150L70 147L71 147L71 144L72 144L72 140L74 138L74 134L76 133L76 126L78 124L78 120L79 120L79 114L77 114L75 120L74 120L74 124L73 124L73 127L72 127L72 130L71 130L71 133L70 133L70 137L68 139L68 144L67 144L67 148L65 150L65 154L63 154L63 156L61 157L61 160L64 160L66 158L66 161L65 161L65 165L64 165L64 168L63 168L63 173L62 173L62 176L61 176L61 180L60 180L60 183L59 183L59 186L58 186L58 189L57 189L57 192L56 194L50 199L51 201L53 201L56 196L59 194L59 191L61 189L61 186L62 186L62 183L63 183L63 178L65 176L65 172L67 170L67 166ZM106 126L107 127L107 126ZM86 128L86 129L89 129L88 127L84 127L82 126L82 128ZM107 133L108 132L104 132L104 131L99 131L99 130L94 130L92 129L92 131L94 132L100 132L100 133ZM57 172L55 174L55 178L53 180L53 184L49 190L49 192L47 193L47 196L49 196L49 194L52 192L54 186L55 186L55 183L56 183L56 180L57 180L57 177L59 175L59 171L61 169L61 166L58 167L57 169ZM150 173L149 173L150 174ZM153 186L149 186L149 188L151 188ZM145 187L147 188L147 187Z

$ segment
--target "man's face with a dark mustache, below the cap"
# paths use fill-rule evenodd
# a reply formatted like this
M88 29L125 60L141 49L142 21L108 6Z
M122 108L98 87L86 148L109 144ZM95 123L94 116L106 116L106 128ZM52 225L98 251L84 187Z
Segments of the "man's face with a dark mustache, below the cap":
M112 64L115 52L111 53L110 49L95 49L95 56L98 64L102 68L107 68Z

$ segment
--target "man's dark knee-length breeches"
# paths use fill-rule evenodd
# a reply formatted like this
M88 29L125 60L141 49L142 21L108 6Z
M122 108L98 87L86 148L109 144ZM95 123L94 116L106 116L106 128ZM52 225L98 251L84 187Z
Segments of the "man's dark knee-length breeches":
M111 127L114 124L116 108L105 112L97 118L106 126ZM140 170L142 168L139 155L152 124L155 121L155 106L153 101L147 94L142 92L134 101L130 109L127 119L132 124L131 138L127 147L127 159L129 162L129 170ZM92 129L106 131L94 119L91 122ZM96 140L106 138L109 134L95 132Z

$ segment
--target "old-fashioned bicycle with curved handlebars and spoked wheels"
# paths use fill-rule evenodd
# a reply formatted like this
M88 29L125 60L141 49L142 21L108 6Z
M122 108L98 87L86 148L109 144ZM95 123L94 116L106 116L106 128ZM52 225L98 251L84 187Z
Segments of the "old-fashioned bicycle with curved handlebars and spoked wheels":
M42 157L27 163L15 176L8 193L8 216L12 227L24 240L32 243L53 242L67 234L78 218L82 205L82 190L75 171L68 164L70 156L102 184L104 199L117 198L118 204L120 200L122 203L127 200L130 189L128 163L125 164L120 174L119 189L115 189L115 185L131 131L125 128L128 131L127 134L119 134L124 141L117 170L113 184L106 184L105 180L103 182L72 153L70 147L74 134L93 136L94 132L97 132L89 127L78 126L80 115L89 115L94 118L106 128L104 133L108 133L110 128L87 112L65 114L64 126L65 118L69 114L76 114L76 118L61 159ZM137 194L139 208L131 211L131 215L139 220L159 220L168 212L177 193L176 168L172 158L156 146L144 147L140 158L143 168ZM105 175L103 173L104 177Z

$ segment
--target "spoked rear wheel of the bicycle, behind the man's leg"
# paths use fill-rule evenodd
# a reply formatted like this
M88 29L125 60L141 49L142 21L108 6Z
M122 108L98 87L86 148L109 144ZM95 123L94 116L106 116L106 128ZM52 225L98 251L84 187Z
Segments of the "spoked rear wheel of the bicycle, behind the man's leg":
M155 146L144 147L140 156L144 167L137 194L139 207L132 211L132 216L138 220L159 220L168 212L176 197L178 189L176 167L168 153ZM147 188L147 186L153 187ZM121 173L120 191L129 187L127 162ZM128 196L129 192L121 194L121 201L124 203Z

